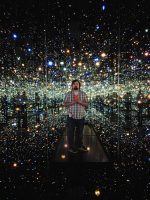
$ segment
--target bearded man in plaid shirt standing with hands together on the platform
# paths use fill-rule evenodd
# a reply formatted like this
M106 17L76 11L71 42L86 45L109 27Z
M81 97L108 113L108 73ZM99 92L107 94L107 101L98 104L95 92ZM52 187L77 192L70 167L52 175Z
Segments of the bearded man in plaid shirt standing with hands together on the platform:
M67 138L69 152L77 153L77 150L87 151L83 145L83 128L88 99L86 93L80 90L80 82L78 80L73 80L71 87L72 90L65 96L64 106L67 107L68 111Z

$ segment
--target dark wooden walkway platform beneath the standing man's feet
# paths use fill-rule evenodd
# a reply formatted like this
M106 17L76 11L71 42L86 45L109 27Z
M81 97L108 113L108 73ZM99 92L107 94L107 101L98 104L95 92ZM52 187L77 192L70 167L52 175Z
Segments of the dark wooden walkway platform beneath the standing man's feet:
M65 133L56 149L55 162L109 162L102 145L88 125L84 127L83 141L84 145L89 147L89 151L71 154L66 147L67 137Z

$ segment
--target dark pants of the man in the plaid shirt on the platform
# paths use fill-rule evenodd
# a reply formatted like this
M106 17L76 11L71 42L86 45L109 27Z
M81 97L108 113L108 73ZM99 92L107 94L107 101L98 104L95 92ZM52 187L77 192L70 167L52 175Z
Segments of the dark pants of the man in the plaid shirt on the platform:
M83 145L83 119L67 118L67 139L69 148L78 148Z

